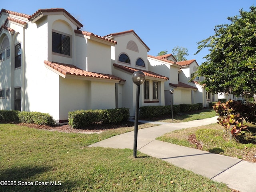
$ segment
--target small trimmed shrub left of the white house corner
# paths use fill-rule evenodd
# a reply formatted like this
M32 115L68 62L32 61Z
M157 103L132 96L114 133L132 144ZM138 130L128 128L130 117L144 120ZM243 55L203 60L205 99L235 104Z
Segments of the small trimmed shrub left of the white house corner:
M48 113L41 112L26 112L22 111L18 113L19 122L23 123L34 123L38 125L49 125L55 124L54 119Z

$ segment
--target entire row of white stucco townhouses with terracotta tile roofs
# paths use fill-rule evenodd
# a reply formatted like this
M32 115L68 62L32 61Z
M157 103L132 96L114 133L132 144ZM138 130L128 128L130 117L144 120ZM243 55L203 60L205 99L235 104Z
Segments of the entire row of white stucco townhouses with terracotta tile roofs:
M134 116L138 70L146 75L140 106L170 104L170 88L174 104L202 102L188 83L196 61L150 56L134 30L101 37L62 8L2 9L0 23L0 109L49 113L60 124L81 109L125 107Z

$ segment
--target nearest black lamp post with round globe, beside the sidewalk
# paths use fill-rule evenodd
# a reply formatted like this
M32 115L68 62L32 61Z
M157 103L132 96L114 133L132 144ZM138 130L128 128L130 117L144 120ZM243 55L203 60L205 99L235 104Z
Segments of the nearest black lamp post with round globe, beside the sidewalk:
M145 74L142 71L136 71L132 74L132 82L137 85L136 88L136 103L135 103L135 120L134 120L134 142L133 142L133 157L137 157L137 138L138 138L138 116L140 102L140 85L145 81Z

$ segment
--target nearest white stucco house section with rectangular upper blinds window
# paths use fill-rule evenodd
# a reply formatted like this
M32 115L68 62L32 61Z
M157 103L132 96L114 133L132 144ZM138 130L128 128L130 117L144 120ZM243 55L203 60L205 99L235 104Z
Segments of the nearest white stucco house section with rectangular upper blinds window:
M0 109L46 112L64 123L72 110L116 107L116 83L125 82L112 74L116 41L79 30L59 8L2 9L0 22Z

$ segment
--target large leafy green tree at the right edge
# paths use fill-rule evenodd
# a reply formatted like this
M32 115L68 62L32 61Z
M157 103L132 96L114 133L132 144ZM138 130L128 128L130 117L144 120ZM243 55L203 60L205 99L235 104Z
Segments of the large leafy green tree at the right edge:
M198 42L198 52L209 48L210 53L192 79L204 76L200 84L212 93L246 96L256 91L256 7L239 12L228 17L230 24L215 26L214 36Z

